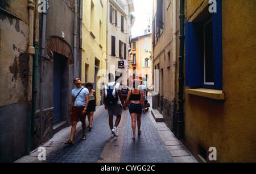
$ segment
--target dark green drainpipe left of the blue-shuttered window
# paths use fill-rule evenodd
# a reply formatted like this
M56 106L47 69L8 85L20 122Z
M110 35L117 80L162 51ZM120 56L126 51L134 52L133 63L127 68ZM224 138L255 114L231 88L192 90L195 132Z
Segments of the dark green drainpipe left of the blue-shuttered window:
M183 113L183 88L184 88L184 0L180 0L180 56L179 56L179 110L177 123L177 138L183 139L184 136L184 113Z

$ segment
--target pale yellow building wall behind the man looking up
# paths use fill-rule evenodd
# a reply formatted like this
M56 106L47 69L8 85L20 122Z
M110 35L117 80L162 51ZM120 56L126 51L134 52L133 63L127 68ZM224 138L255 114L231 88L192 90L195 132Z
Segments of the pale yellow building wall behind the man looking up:
M103 7L102 7L103 5ZM98 71L106 69L106 20L107 20L107 1L84 1L83 2L83 14L82 14L82 61L81 61L81 78L82 82L94 82L95 65L98 67ZM91 7L94 6L92 9ZM92 12L92 13L91 13ZM100 30L101 21L101 30ZM90 34L96 37L95 39ZM102 45L102 48L100 47ZM102 53L103 52L103 53ZM105 72L105 71L102 71ZM85 74L87 75L87 81L85 81ZM96 74L97 76L97 74ZM100 80L103 76L97 76L96 81ZM97 105L100 105L100 87L98 83L96 95Z

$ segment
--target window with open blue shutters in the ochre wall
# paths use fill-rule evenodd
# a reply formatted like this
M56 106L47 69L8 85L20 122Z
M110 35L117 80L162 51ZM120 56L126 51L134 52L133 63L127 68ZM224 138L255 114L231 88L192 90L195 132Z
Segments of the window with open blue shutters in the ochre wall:
M185 23L186 86L222 89L221 0L217 13L203 22Z

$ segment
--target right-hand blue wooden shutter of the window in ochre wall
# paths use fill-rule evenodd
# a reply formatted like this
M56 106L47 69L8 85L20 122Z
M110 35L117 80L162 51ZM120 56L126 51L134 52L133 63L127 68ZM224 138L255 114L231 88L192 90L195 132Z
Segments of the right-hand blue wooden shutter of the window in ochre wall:
M217 0L217 13L213 13L214 35L214 88L222 89L222 5Z

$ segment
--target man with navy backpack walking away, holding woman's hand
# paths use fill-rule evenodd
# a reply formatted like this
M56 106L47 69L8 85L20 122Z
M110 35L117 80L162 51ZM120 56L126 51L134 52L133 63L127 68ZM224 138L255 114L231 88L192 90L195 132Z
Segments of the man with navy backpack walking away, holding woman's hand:
M104 105L109 114L109 127L112 131L111 137L117 136L117 127L121 121L122 106L124 101L121 93L121 85L114 81L114 75L109 73L109 82L104 86ZM122 105L121 105L122 102ZM126 109L125 107L123 109ZM113 125L113 115L116 115Z

